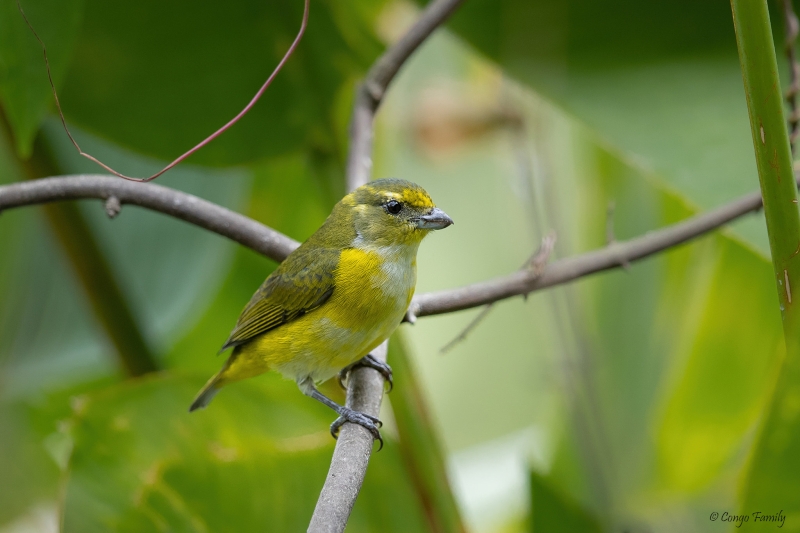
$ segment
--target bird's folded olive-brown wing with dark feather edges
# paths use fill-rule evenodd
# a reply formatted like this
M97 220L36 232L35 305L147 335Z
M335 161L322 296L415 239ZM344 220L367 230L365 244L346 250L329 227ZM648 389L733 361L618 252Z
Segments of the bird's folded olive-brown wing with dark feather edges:
M341 250L296 250L264 281L242 311L222 350L243 344L325 303Z

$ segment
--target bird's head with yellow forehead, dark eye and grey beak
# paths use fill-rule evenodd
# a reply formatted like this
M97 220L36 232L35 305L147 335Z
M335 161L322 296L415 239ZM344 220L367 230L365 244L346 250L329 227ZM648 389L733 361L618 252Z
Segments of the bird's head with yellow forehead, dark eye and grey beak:
M362 185L337 207L352 220L356 239L369 246L419 244L431 231L453 223L425 189L399 179Z

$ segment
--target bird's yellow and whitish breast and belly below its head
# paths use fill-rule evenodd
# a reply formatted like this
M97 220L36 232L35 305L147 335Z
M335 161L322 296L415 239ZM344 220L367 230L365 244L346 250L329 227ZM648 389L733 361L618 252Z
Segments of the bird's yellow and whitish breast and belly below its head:
M416 247L344 250L331 298L242 346L230 378L276 370L295 380L324 381L367 355L408 309L416 284L415 255Z

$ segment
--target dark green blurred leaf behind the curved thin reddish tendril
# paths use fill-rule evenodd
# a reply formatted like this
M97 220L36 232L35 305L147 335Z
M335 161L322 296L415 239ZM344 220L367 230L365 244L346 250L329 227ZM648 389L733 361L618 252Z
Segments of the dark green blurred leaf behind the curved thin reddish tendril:
M333 150L332 107L380 52L369 23L381 5L312 2L302 43L263 99L192 160L242 164L301 144ZM301 0L89 0L62 95L67 118L175 158L250 101L294 39L302 11Z

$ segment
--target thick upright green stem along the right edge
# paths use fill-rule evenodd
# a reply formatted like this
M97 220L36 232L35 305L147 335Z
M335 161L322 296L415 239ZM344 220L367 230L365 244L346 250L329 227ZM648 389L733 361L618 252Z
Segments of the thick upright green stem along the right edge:
M788 515L800 513L800 214L767 2L731 0L731 8L786 339L742 511Z

